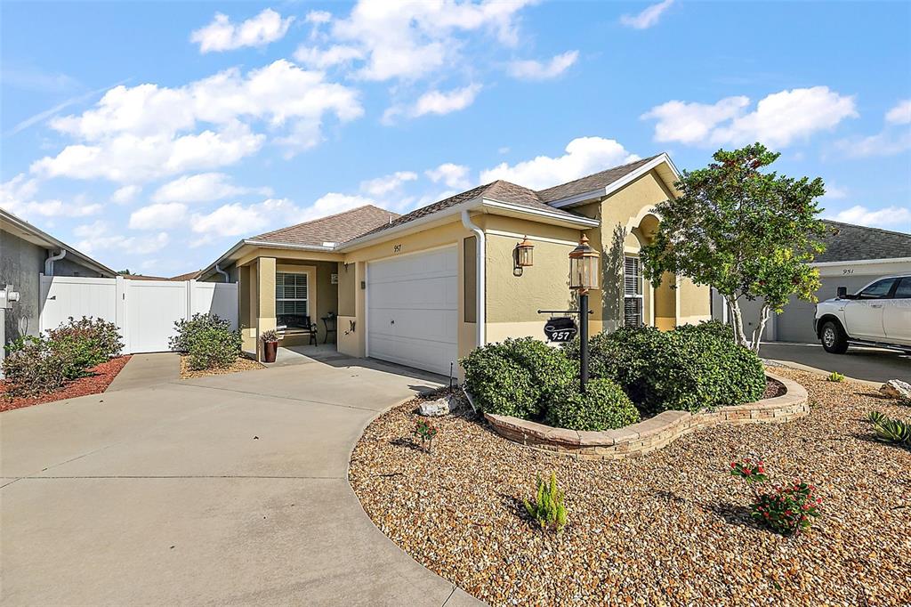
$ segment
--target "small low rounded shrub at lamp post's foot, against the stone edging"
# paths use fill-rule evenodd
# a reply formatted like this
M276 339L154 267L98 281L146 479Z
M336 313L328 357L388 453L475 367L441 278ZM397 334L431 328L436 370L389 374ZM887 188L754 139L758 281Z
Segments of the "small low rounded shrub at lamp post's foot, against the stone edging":
M629 396L609 379L592 379L585 394L578 384L554 390L547 406L547 423L570 430L610 430L639 421L639 410Z

